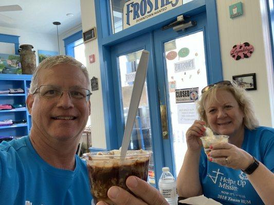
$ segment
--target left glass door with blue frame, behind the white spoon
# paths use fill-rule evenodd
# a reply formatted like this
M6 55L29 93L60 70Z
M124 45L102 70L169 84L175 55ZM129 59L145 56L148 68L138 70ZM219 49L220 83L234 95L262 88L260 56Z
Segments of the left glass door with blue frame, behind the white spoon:
M111 48L112 66L114 79L116 121L118 133L118 146L122 144L124 126L129 111L130 100L132 96L135 73L143 49L150 52L147 80L144 84L134 128L131 135L129 150L151 150L153 156L150 160L149 182L157 186L156 170L161 169L161 141L158 130L159 122L157 119L157 93L155 92L156 75L153 68L153 57L151 50L150 37L152 34L145 34L128 42L121 43ZM152 85L149 89L148 85ZM156 123L153 123L156 122ZM158 148L159 147L159 148ZM157 158L155 158L157 156ZM156 166L157 164L157 166Z

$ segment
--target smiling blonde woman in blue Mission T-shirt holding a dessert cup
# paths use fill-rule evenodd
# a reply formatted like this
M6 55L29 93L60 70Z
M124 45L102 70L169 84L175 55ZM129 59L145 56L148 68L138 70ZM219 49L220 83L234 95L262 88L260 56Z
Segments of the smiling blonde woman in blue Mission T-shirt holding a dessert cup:
M246 91L225 80L202 90L201 120L186 133L188 150L177 178L178 195L204 194L222 204L274 204L274 129L259 127ZM228 135L208 158L205 127Z

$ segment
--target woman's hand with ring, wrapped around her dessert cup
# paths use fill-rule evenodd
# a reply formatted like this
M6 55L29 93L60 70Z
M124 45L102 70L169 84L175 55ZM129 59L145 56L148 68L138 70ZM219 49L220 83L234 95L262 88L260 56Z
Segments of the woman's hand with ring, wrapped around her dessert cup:
M249 153L227 142L211 145L210 149L210 161L235 170L245 170L253 161Z

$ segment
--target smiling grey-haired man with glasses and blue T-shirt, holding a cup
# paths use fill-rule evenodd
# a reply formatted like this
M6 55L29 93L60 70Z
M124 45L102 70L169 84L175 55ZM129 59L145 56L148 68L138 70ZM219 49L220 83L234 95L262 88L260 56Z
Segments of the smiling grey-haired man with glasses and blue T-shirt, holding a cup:
M90 205L86 163L75 155L90 114L89 88L87 70L74 58L53 56L38 66L26 101L30 135L0 145L0 204ZM164 204L147 182L129 177L127 185L147 204ZM146 204L117 187L109 197L118 205Z

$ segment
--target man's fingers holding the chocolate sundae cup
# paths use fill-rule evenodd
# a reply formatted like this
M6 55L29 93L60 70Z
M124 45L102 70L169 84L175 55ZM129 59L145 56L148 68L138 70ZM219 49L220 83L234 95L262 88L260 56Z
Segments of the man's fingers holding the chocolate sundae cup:
M136 176L130 176L126 179L126 186L139 198L136 198L129 192L120 187L111 187L107 196L117 205L168 205L169 203L160 194L160 192ZM97 205L107 205L106 202L99 201Z

